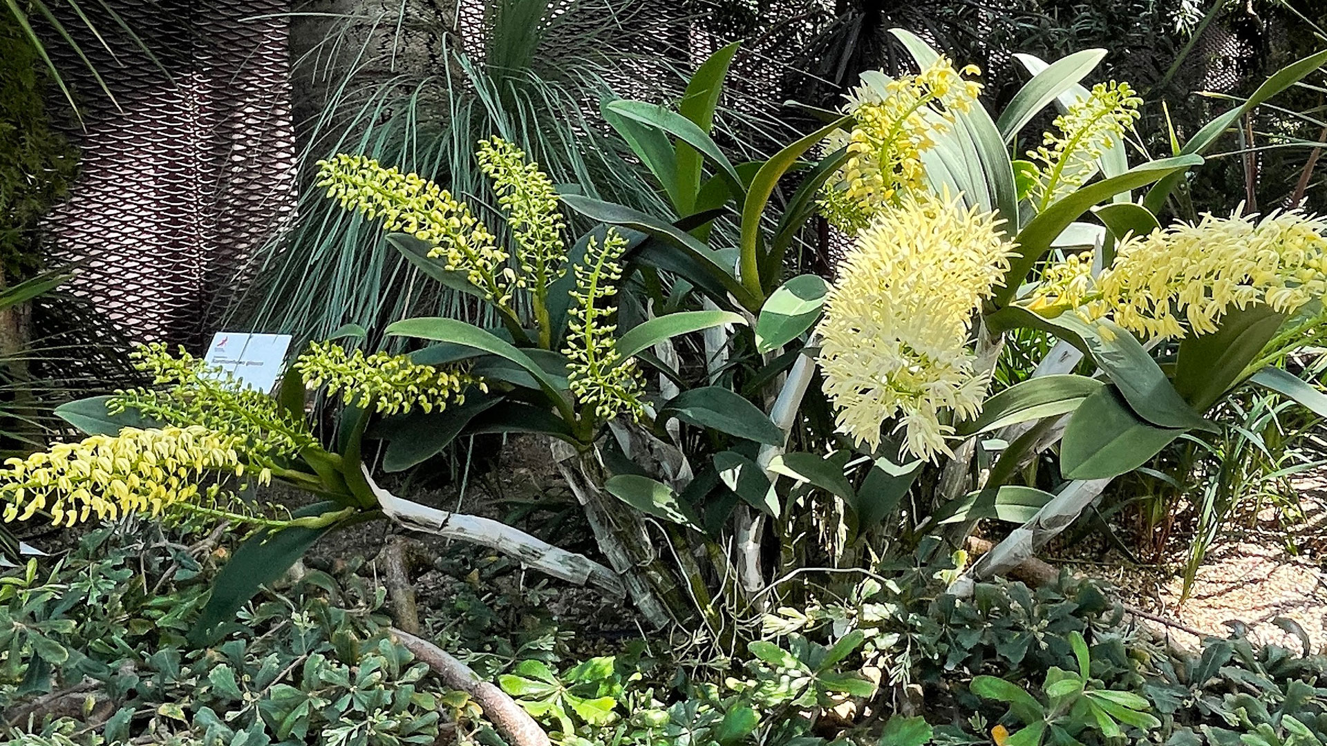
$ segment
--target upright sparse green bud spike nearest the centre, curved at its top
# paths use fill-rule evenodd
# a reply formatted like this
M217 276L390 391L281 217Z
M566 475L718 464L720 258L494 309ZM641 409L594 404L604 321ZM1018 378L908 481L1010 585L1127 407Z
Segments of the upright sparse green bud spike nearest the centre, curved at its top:
M576 289L568 320L569 333L563 350L571 358L567 380L583 410L592 410L600 419L626 413L633 419L644 414L640 401L641 381L634 360L622 360L617 352L610 305L598 307L617 295L622 277L618 260L626 251L626 239L609 228L602 242L593 236L585 248L585 264L576 265Z

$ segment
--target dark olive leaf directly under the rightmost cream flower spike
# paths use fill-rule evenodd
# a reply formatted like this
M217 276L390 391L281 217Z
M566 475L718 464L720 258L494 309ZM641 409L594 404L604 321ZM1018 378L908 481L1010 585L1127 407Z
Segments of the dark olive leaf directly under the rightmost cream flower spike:
M1194 409L1206 411L1239 382L1245 369L1286 321L1266 305L1237 308L1210 335L1189 335L1180 342L1174 389Z

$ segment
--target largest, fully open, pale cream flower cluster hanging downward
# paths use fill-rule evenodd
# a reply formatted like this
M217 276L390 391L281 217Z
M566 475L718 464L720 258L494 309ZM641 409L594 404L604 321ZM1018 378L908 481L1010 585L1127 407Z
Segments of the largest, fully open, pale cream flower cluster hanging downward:
M942 413L973 417L986 397L969 336L1009 268L999 223L957 199L905 195L857 235L817 328L840 431L874 449L898 417L908 451L951 454Z

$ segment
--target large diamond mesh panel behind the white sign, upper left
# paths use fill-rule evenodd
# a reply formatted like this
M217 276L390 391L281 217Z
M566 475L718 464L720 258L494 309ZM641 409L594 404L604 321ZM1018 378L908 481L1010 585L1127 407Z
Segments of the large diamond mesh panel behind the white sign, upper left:
M159 65L114 38L123 35L107 35L119 65L80 40L117 110L77 60L57 60L86 123L74 133L82 171L50 216L53 259L86 263L70 289L130 337L191 344L244 280L236 268L293 208L287 20L271 17L289 3L110 5Z

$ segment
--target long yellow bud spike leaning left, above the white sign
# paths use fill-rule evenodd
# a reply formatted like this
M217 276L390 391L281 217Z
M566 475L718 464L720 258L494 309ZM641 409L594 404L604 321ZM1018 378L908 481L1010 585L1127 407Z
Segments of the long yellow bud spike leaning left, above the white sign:
M511 288L520 287L520 280L507 267L507 252L464 202L418 174L384 167L364 155L341 153L318 166L318 186L341 207L370 220L382 218L387 231L437 244L429 256L442 259L451 272L464 272L488 300L503 307L511 303Z

